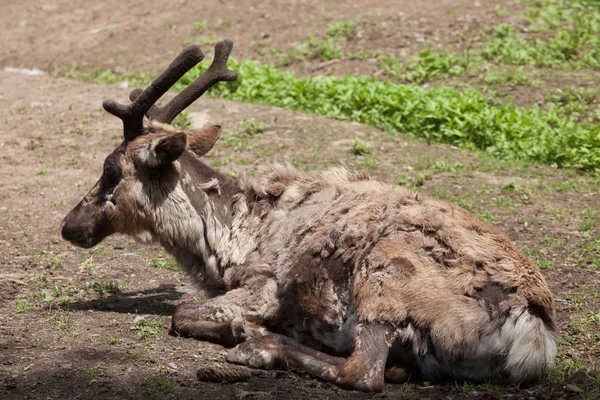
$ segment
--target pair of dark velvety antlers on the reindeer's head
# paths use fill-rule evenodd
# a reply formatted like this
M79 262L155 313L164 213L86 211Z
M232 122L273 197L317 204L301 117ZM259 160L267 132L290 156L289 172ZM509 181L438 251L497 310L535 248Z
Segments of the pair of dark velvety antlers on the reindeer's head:
M111 99L104 100L102 106L106 111L123 120L125 140L132 140L143 134L144 115L159 122L170 123L215 83L236 80L237 74L227 69L227 60L232 48L231 40L217 43L215 58L208 70L162 108L155 106L154 103L187 71L204 59L204 53L198 46L186 46L169 67L145 90L134 89L129 94L132 103L128 106Z

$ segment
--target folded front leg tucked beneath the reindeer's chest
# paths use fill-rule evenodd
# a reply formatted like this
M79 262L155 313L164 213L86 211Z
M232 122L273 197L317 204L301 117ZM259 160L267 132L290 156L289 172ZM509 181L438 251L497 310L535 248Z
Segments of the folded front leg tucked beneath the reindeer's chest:
M265 332L261 325L272 320L277 310L273 284L268 282L262 290L242 287L202 303L181 304L173 314L171 332L226 347L260 337Z

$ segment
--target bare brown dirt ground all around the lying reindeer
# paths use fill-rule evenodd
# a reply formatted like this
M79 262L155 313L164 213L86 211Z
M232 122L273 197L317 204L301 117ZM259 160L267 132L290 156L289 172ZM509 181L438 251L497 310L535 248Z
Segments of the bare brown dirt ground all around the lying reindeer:
M230 37L235 57L261 59L265 40L285 48L332 21L367 14L393 29L367 30L354 45L408 57L425 41L458 46L469 40L465 32L509 20L513 14L493 12L496 3L519 10L517 3L490 0L7 3L0 5L0 67L47 72L62 66L157 70L194 35ZM204 20L199 33L197 23ZM371 64L341 61L326 72L372 71ZM316 73L318 65L295 68ZM0 88L0 398L600 398L582 373L553 375L530 387L387 385L376 396L282 371L257 371L234 384L198 382L196 369L224 362L226 349L167 334L176 305L197 296L170 268L168 256L158 246L116 236L92 250L77 249L59 234L62 218L93 186L104 157L122 138L120 121L102 110L102 99L124 101L128 90L6 70ZM239 121L264 124L248 143L232 140L210 154L208 162L230 174L252 174L270 162L305 169L343 162L493 219L545 268L562 334L561 371L600 362L597 180L505 166L456 148L277 108L204 98L191 110L197 124L219 123L225 135L235 135ZM351 154L355 137L371 143L374 153Z

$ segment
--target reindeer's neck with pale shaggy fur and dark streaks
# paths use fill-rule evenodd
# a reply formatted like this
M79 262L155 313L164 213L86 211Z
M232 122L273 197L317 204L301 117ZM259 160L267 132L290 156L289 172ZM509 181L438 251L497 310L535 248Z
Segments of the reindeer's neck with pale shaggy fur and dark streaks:
M244 229L245 196L237 181L193 154L184 153L179 164L178 193L169 196L177 204L169 204L163 221L156 221L156 236L200 286L220 289L225 270L242 264L255 247Z

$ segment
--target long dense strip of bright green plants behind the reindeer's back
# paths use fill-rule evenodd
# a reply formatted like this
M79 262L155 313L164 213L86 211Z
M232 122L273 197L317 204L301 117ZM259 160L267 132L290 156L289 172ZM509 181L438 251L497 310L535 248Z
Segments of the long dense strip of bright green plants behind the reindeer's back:
M483 150L496 157L600 171L600 125L538 107L494 105L473 89L425 89L371 77L298 78L251 61L232 61L240 79L213 96L361 122L428 143ZM176 85L181 90L206 68L199 65Z

